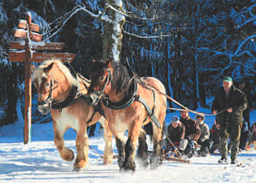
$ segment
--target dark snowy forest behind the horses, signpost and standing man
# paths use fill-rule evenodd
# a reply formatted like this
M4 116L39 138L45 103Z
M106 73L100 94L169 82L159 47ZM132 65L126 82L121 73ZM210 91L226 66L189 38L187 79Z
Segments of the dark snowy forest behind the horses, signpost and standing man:
M39 24L44 41L65 43L64 52L76 53L77 73L88 76L92 59L102 58L103 24L75 7L103 11L109 1L1 0L0 1L0 126L17 120L24 110L24 64L10 62L8 50L19 19L26 12ZM129 0L122 30L120 61L139 76L160 79L170 95L191 109L210 108L212 97L229 75L244 79L255 108L255 0ZM37 64L35 64L37 66ZM50 122L37 111L33 88L32 122ZM35 104L35 105L34 105ZM177 107L169 102L170 107ZM40 120L38 120L40 119Z

